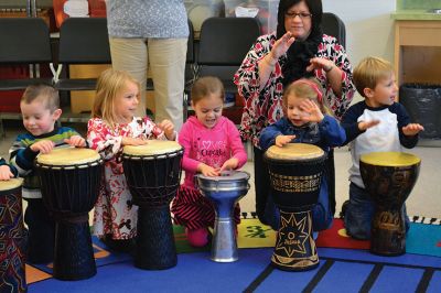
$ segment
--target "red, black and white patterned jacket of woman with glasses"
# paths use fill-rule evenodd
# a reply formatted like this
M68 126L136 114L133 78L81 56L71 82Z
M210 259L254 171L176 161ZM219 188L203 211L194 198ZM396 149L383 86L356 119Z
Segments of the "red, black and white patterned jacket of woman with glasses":
M258 148L260 148L259 135L262 129L283 116L283 75L281 68L287 62L286 55L279 58L267 84L261 90L259 89L258 63L271 51L276 41L275 32L259 36L234 76L234 82L245 104L239 129L240 135L244 140L251 140L252 144ZM349 107L355 93L352 82L352 65L344 47L337 43L335 37L326 34L323 34L323 41L319 45L316 56L332 59L343 72L342 95L336 96L327 83L326 73L323 69L315 70L315 78L324 89L323 100L334 116L340 119Z

